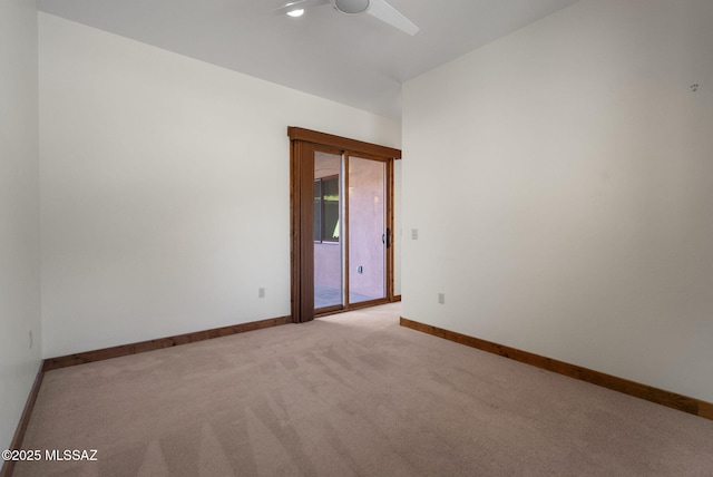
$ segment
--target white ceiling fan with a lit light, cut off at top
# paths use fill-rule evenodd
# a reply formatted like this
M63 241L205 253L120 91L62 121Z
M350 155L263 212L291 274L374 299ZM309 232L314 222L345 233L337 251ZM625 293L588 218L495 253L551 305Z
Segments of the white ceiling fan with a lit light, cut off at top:
M274 13L299 17L306 8L328 3L331 3L336 11L344 14L369 13L411 36L419 31L419 27L401 14L399 10L387 3L385 0L294 0L274 10Z

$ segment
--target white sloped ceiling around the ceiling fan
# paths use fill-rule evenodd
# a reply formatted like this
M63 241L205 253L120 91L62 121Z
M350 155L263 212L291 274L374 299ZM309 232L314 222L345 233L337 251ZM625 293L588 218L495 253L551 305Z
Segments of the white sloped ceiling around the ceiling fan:
M401 84L577 0L389 0L411 37L285 0L38 0L41 11L323 98L400 118Z

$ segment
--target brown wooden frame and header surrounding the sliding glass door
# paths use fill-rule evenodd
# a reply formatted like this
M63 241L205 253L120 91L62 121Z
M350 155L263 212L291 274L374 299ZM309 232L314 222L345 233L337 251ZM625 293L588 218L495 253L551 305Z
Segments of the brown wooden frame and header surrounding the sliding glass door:
M291 295L292 322L314 319L314 152L326 147L344 154L364 154L387 159L389 184L387 224L393 236L393 160L401 150L316 130L289 126L290 137L290 235L291 235ZM387 249L387 301L393 296L393 246ZM370 305L367 302L364 305ZM348 306L348 304L346 304ZM351 309L359 306L348 306Z

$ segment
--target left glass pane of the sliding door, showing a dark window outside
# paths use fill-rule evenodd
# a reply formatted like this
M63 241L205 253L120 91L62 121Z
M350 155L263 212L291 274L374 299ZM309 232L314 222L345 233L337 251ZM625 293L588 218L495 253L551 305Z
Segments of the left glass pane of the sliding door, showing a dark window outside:
M342 156L314 153L314 308L343 305Z

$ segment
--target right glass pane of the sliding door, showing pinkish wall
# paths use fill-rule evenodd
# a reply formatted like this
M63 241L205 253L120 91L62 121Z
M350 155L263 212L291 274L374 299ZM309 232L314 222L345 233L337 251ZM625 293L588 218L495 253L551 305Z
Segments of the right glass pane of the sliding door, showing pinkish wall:
M349 302L385 296L385 163L349 158Z

